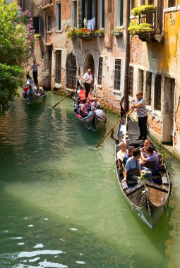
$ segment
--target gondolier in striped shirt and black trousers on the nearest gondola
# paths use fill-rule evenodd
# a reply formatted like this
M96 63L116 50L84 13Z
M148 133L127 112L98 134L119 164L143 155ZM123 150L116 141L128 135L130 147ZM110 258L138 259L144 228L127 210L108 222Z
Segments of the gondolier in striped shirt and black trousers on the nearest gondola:
M143 99L143 93L138 91L136 93L136 101L133 104L133 108L131 112L133 112L134 109L136 109L138 114L138 126L140 130L140 135L137 138L137 140L145 140L147 138L147 120L148 120L148 111L146 109L145 99Z

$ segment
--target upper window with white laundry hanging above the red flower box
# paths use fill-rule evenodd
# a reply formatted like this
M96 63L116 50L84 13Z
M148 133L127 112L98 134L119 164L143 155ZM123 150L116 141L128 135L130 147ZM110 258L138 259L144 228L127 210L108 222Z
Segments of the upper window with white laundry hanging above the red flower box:
M97 28L97 0L81 0L79 7L79 28Z

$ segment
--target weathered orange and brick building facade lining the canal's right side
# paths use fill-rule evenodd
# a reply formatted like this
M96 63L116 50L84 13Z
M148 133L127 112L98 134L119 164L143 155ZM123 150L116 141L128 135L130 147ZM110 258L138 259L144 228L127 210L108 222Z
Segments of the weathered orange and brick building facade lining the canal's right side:
M150 4L155 11L131 13ZM143 91L150 133L180 154L180 0L22 0L20 5L32 12L32 56L40 63L44 87L73 90L91 68L97 97L118 112L123 96L128 109ZM153 33L129 35L130 22L150 23ZM101 30L102 36L67 37L72 28Z

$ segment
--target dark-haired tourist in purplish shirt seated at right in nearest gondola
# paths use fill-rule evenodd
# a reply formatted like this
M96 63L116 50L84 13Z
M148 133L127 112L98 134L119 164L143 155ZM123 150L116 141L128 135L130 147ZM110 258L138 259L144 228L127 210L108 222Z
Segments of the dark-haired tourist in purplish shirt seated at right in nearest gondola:
M143 156L143 150L140 149L140 157L144 163L144 166L141 167L142 170L151 171L152 175L157 175L160 169L160 161L157 154L154 153L153 147L146 147L146 152L148 157Z

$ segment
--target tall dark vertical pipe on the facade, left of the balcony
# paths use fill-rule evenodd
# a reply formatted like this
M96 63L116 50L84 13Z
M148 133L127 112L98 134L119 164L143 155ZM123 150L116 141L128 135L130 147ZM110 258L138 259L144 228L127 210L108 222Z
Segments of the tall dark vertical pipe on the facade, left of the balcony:
M128 22L130 18L130 1L126 1L126 40L125 40L125 78L124 78L124 111L128 111L128 87L129 87L129 61L130 61L130 35L128 33Z

